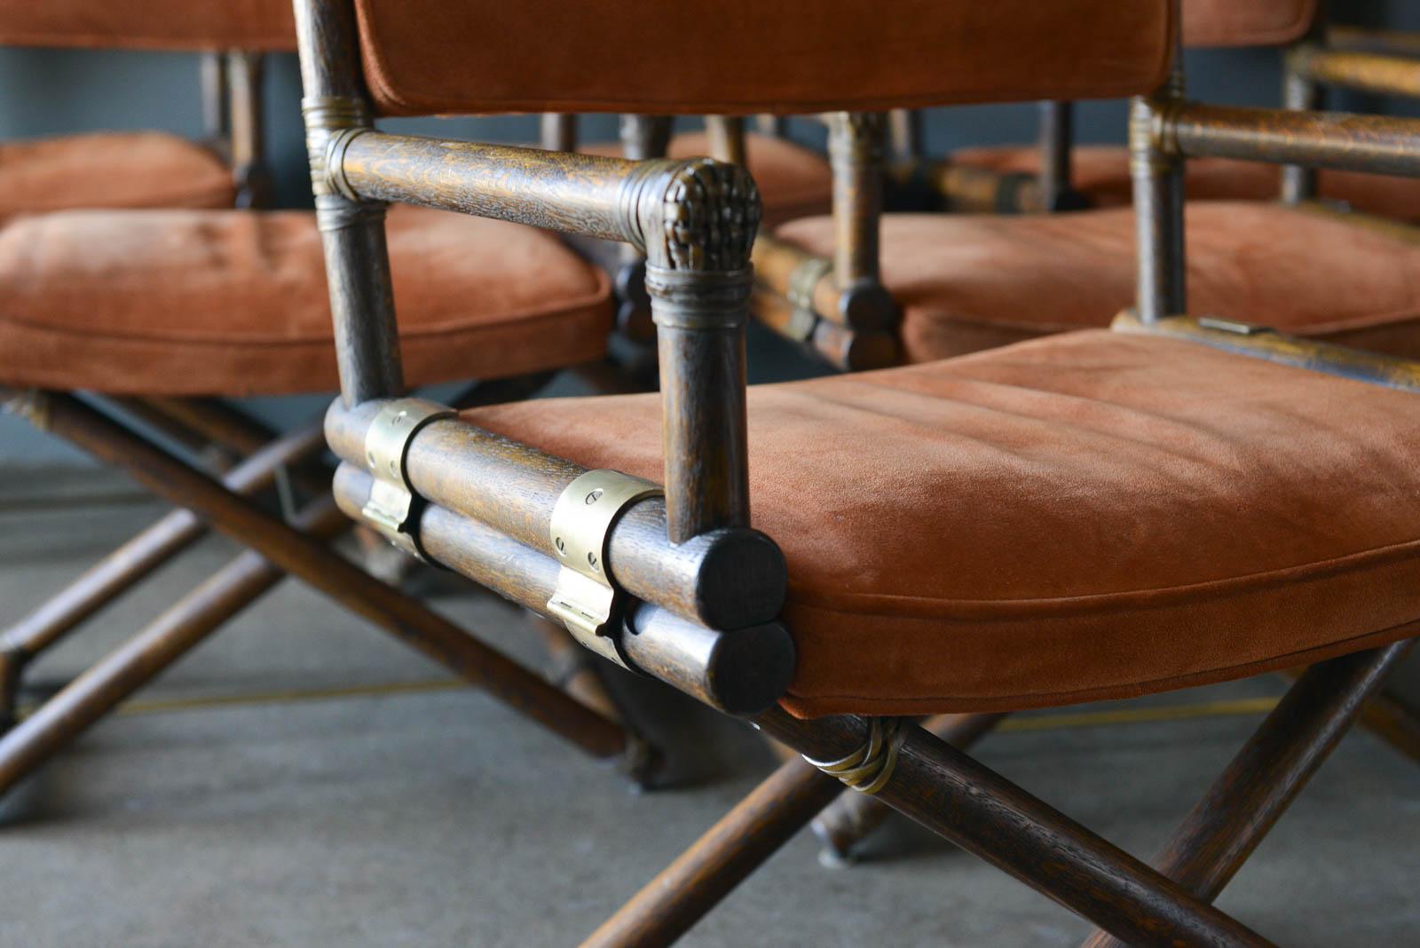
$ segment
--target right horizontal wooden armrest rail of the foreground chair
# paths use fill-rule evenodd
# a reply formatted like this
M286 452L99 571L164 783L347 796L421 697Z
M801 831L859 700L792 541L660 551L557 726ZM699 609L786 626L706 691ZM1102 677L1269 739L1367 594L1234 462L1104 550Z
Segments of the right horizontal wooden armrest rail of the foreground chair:
M1166 150L1420 177L1420 119L1189 102L1163 116Z

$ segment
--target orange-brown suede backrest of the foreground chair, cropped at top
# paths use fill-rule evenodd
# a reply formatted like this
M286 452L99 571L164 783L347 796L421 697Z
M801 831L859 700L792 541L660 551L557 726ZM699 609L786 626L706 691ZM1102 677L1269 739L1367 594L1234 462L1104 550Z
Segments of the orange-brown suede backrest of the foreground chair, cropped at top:
M356 0L389 115L816 112L1159 84L1169 0ZM555 23L557 28L548 28Z

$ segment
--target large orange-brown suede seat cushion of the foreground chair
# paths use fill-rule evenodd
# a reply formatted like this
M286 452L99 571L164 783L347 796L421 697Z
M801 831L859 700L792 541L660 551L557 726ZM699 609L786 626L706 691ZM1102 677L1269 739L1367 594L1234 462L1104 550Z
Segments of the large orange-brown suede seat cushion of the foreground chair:
M1120 698L1417 632L1420 396L1092 331L748 406L795 714ZM662 477L655 395L466 417Z

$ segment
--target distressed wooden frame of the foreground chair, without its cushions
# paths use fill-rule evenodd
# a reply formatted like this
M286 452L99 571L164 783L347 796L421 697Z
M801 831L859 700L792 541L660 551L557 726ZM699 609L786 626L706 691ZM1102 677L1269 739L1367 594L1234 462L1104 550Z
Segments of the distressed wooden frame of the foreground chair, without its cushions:
M1409 643L1308 671L1200 803L1170 849L1176 856L1160 869L910 722L792 718L775 704L794 658L777 620L787 575L774 544L748 527L743 331L758 219L753 180L741 167L713 159L635 162L381 133L362 92L349 3L297 0L297 11L302 108L341 366L342 397L325 429L342 458L335 478L341 507L366 519L372 502L376 514L402 511L375 517L396 542L550 616L564 614L557 609L568 569L559 559L567 555L559 531L592 531L591 549L604 553L611 612L604 624L569 620L579 641L750 720L819 762L818 769L787 764L669 870L683 886L652 884L588 944L673 941L801 826L829 788L836 790L836 776L819 771L876 792L1129 944L1269 944L1214 908L1211 895ZM1235 143L1230 150L1420 172L1420 158L1367 148L1370 139L1338 143L1311 116L1233 115L1183 104L1179 95L1181 84L1136 105L1136 166L1147 172L1137 183L1146 251L1139 311L1147 329L1184 325L1162 322L1164 314L1181 311L1181 280L1170 275L1181 263L1181 227L1174 223L1181 213L1181 155L1248 139L1247 148ZM1289 126L1308 142L1305 149L1268 145L1272 139L1257 133L1264 122L1298 121L1312 122L1309 131ZM1156 138L1156 129L1167 133ZM1387 129L1390 142L1420 135L1414 122ZM437 406L399 399L385 202L535 223L619 240L646 254L665 407L663 498L648 497L645 483L588 473ZM1257 336L1238 338L1240 348L1254 351L1247 341ZM1260 349L1277 358L1275 348ZM1335 366L1338 352L1311 346L1308 360ZM554 528L565 517L558 501L581 501L589 474L632 500L609 521L588 524L591 515L584 515ZM586 505L599 497L588 492ZM734 555L720 555L726 549ZM785 796L795 788L798 793Z

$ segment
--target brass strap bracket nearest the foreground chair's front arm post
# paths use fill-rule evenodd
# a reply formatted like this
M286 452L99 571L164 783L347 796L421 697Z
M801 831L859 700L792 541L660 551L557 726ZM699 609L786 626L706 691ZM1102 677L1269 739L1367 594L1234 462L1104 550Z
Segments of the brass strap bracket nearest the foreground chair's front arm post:
M619 626L625 593L606 575L612 527L639 500L665 491L621 471L586 471L557 498L550 536L561 569L547 600L548 613L579 643L629 668L621 651Z

